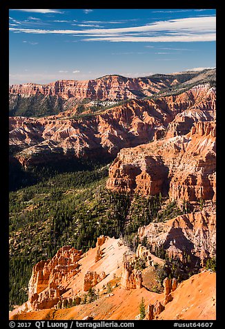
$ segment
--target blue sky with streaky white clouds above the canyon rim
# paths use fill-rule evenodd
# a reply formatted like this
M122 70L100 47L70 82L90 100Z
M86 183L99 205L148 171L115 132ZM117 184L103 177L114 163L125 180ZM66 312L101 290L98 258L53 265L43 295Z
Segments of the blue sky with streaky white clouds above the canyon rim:
M214 68L213 9L10 9L10 84Z

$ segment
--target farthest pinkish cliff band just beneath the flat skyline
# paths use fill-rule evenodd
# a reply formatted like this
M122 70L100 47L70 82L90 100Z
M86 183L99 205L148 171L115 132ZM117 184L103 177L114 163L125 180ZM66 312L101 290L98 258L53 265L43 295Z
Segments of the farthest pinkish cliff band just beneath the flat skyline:
M107 75L92 80L59 80L50 84L14 84L10 93L23 97L30 95L59 96L63 100L70 97L90 100L128 100L153 95L170 85L170 81L153 82L150 78L127 78L119 75Z

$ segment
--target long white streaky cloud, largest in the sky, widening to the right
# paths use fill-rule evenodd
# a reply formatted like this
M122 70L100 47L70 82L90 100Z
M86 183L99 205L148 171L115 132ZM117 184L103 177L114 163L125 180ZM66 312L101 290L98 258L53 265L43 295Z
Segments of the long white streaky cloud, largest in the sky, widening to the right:
M12 32L84 35L84 41L190 42L215 41L215 17L188 17L156 21L145 26L127 28L92 28L84 30L41 30L10 28Z

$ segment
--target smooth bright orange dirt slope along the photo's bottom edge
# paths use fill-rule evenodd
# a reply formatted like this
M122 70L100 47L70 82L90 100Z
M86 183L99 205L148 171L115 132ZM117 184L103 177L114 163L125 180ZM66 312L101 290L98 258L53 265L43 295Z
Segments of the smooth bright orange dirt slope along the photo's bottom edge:
M114 320L135 320L139 312L141 298L144 297L146 305L146 317L148 310L154 309L154 320L198 320L211 321L216 319L216 274L211 271L204 271L190 276L188 280L183 281L172 292L173 301L164 306L162 310L163 294L155 294L145 290L123 290L117 287L113 290L114 294L106 298L106 295L99 297L95 303L86 303L81 306L68 308L65 310L40 310L36 312L23 312L17 310L10 313L10 320L61 320L66 319L81 320L84 317L92 316L94 319ZM122 292L122 293L121 293ZM159 305L161 304L161 306ZM162 312L159 313L159 310ZM15 311L15 310L14 310ZM159 313L159 314L158 314ZM139 319L139 316L136 317ZM153 326L154 327L154 326Z

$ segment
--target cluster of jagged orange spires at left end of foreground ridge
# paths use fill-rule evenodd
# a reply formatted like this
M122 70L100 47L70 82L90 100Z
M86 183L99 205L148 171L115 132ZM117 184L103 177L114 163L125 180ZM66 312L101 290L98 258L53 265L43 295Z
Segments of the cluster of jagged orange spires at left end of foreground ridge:
M66 291L66 283L79 272L82 252L62 247L48 261L40 261L32 269L28 285L28 301L32 309L52 308Z

